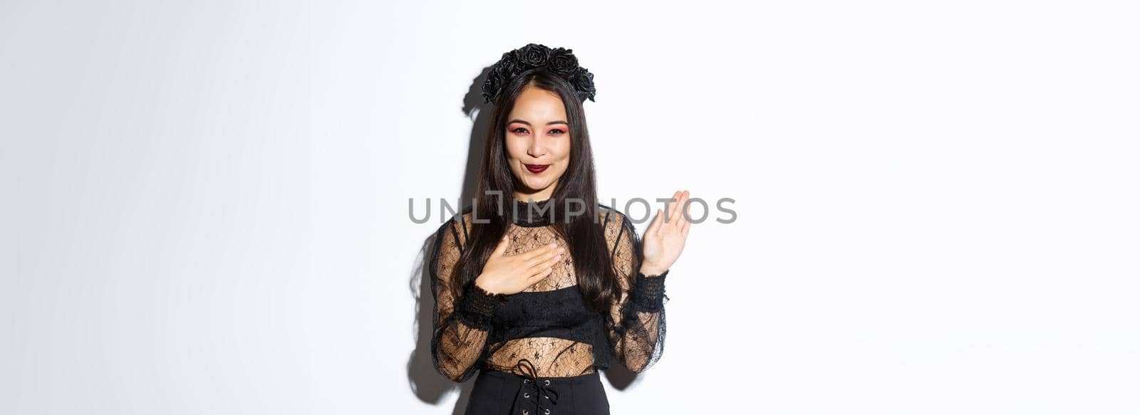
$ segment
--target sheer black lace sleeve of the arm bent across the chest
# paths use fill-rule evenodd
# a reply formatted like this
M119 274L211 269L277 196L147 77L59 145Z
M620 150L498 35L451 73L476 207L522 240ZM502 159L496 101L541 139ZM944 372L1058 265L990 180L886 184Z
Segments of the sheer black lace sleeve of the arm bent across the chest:
M430 265L435 299L432 361L440 374L455 382L471 377L478 363L486 358L490 317L505 301L503 294L491 295L475 286L474 280L453 290L457 280L463 280L453 276L469 230L463 223L465 221L453 219L440 227Z

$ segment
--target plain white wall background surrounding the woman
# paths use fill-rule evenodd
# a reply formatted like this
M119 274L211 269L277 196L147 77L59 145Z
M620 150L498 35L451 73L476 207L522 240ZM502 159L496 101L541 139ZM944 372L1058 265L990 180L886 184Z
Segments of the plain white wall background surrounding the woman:
M614 414L1140 413L1138 18L5 1L0 413L462 413L408 198L459 197L473 82L529 42L595 73L602 198L736 201Z

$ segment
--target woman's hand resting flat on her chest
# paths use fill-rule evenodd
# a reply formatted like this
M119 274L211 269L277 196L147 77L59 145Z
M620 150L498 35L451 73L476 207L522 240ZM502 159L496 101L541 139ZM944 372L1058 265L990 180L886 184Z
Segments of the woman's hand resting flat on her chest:
M506 255L507 245L507 237L504 236L483 265L482 274L475 278L475 285L488 293L515 294L527 290L551 275L565 251L552 243L520 254Z

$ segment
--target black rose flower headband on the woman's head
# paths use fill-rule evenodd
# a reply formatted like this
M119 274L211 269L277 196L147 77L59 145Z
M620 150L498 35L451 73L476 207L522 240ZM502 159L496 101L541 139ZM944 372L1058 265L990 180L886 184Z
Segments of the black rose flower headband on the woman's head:
M487 80L483 81L483 101L494 101L503 86L506 86L512 78L536 67L546 68L547 72L570 82L578 99L583 101L594 100L596 91L594 89L594 74L585 67L578 66L578 58L573 56L573 50L551 49L543 44L529 43L504 52L499 62L491 65L491 70L487 72Z

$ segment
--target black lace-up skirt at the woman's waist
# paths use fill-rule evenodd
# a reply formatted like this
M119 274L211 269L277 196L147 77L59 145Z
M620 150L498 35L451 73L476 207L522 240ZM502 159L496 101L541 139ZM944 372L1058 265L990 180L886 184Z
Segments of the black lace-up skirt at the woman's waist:
M520 365L528 360L523 359ZM610 401L596 371L538 377L481 369L464 415L609 415Z

